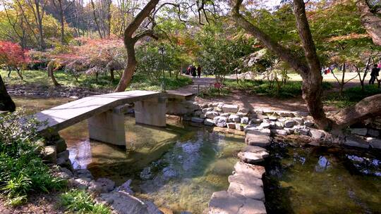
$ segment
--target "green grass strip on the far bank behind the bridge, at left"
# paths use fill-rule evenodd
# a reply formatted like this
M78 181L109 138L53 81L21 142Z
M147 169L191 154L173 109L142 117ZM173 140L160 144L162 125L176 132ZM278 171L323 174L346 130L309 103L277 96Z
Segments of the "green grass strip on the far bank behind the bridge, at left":
M6 84L37 84L43 86L53 86L50 77L47 76L47 72L44 70L25 70L23 72L23 79L20 80L16 71L11 72L11 76L8 77L8 72L6 70L0 70L0 75L3 77ZM75 77L69 73L65 73L61 70L54 73L57 82L65 86L70 87L87 87L89 89L115 89L116 85L119 83L120 77L115 73L115 80L111 82L109 73L100 73L98 75L98 81L95 75L79 75L78 81ZM181 76L176 79L174 75L169 77L166 73L166 88L167 89L177 89L179 87L191 84L192 79L189 77ZM128 90L155 90L159 91L162 88L162 82L152 82L145 75L138 73L133 76L130 87Z

